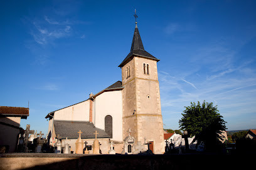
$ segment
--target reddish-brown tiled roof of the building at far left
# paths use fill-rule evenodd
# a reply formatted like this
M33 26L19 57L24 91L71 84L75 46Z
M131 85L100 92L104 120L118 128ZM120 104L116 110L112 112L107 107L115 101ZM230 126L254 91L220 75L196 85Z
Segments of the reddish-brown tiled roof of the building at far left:
M29 108L0 106L0 114L28 116Z

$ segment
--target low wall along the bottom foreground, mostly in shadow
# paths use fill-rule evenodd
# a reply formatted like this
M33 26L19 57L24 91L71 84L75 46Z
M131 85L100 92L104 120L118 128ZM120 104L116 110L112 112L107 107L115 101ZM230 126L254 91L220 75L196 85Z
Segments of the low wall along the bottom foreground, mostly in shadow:
M255 155L3 154L0 169L247 169ZM253 161L251 162L253 163Z

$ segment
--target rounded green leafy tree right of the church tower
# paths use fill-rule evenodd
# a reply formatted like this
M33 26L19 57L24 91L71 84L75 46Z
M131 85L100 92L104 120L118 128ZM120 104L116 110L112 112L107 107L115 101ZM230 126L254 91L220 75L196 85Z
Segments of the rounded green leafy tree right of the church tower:
M213 103L205 103L202 105L198 101L198 104L191 102L191 106L185 106L186 108L179 120L179 127L182 130L188 131L188 134L195 136L193 143L197 141L197 144L203 142L205 148L208 151L213 151L220 144L221 131L225 131L225 121L223 116L218 113L217 106L213 106Z

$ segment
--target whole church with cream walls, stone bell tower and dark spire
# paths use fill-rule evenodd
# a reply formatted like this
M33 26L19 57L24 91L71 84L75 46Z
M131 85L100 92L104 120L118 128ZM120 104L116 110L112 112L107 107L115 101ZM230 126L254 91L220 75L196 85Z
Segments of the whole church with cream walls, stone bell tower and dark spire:
M154 154L164 153L163 118L157 76L159 59L145 51L136 27L130 53L119 67L117 81L80 103L48 113L48 143L61 138L75 151L78 131L84 147L91 152L95 131L100 152L107 154L110 143L116 153L143 153L148 146ZM147 145L146 145L147 144Z

